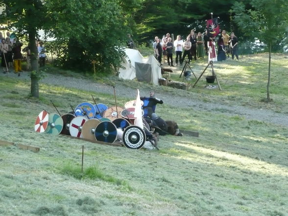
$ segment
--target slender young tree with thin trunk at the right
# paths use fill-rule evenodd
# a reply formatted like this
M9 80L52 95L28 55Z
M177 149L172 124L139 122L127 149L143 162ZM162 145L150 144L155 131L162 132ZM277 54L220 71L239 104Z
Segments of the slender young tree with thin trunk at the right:
M235 21L246 36L263 41L269 50L267 101L271 101L270 68L271 50L288 36L287 0L251 0L248 5L236 2L233 6Z

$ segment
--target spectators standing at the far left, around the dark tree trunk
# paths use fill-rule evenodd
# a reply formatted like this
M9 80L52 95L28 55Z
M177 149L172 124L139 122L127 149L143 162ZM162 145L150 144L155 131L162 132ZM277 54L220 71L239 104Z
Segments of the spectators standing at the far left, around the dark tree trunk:
M20 72L22 72L22 52L21 48L23 43L19 41L18 38L10 38L10 32L6 32L7 37L4 38L2 33L0 32L0 55L1 55L1 66L3 68L3 73L9 72L9 68L13 68L14 65L14 72L18 73L20 76ZM30 70L31 63L30 63L30 55L31 51L29 45L22 49L23 52L27 54L27 70ZM38 46L38 53L39 53L39 63L40 67L45 65L45 58L46 58L46 51L43 47L43 42L39 43ZM13 64L14 63L14 64Z

